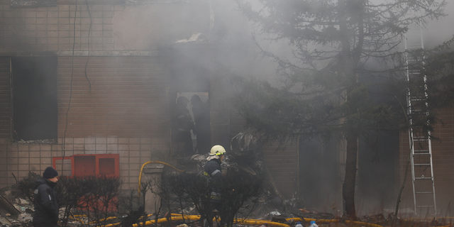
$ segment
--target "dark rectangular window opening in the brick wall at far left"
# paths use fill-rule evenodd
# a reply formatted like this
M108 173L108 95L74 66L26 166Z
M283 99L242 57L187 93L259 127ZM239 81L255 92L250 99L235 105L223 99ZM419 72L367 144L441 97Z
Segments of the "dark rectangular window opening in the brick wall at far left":
M57 57L11 57L13 140L57 138Z

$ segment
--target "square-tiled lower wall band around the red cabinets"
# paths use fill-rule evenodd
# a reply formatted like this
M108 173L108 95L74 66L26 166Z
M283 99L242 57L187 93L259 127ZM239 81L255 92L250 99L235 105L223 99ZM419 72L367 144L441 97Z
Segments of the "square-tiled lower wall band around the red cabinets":
M167 144L155 138L66 138L65 156L80 154L119 154L122 189L137 187L140 167L159 159ZM167 148L168 150L168 148ZM0 188L27 177L28 172L41 174L52 165L52 157L62 157L62 139L57 144L9 143L0 139ZM62 172L57 167L60 175Z

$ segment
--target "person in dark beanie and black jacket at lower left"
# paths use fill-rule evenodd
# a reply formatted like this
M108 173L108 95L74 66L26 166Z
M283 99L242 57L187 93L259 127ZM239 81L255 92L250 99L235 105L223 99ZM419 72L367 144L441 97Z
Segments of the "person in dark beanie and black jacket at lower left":
M43 178L35 181L33 226L57 226L59 207L54 190L57 182L58 172L52 167L47 167L43 172Z

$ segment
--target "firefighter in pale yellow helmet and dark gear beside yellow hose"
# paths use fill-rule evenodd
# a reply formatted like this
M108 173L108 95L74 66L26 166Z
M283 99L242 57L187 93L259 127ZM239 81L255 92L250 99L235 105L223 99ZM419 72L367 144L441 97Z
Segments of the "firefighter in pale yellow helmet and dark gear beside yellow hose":
M226 149L221 145L214 145L210 150L209 157L206 158L204 167L204 175L209 177L211 184L211 205L217 211L221 208L221 194L219 193L219 187L221 183L221 177L223 174L221 172L221 162L223 160Z

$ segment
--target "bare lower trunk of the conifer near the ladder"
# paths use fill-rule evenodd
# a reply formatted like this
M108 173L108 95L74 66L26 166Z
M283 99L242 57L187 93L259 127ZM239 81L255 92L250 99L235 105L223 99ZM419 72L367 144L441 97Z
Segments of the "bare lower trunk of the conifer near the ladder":
M343 218L348 220L356 220L355 181L357 154L358 135L350 130L347 135L347 160L345 163L345 179L342 186L342 197L345 205Z

